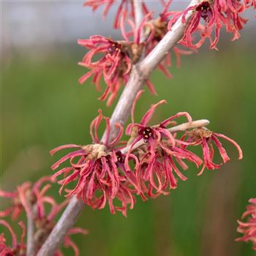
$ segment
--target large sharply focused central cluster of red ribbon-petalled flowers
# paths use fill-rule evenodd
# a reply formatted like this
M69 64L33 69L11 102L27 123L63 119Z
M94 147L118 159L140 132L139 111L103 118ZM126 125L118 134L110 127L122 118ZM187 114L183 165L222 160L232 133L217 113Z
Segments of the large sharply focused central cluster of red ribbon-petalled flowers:
M109 142L110 125L109 118L99 116L91 123L91 138L94 144L80 146L68 144L53 149L51 154L64 148L78 148L59 159L52 168L56 170L59 165L69 159L69 165L58 170L53 175L53 180L64 175L59 181L60 192L65 187L66 197L77 196L92 208L104 208L106 203L110 206L110 212L121 211L127 215L127 206L133 208L135 195L140 195L143 200L148 197L167 195L170 189L175 189L178 178L185 181L187 177L181 173L187 170L186 162L192 162L196 167L203 165L199 174L205 168L218 169L222 164L215 164L214 144L217 146L223 162L229 157L225 148L222 147L219 138L233 143L238 150L238 159L242 158L241 148L238 144L225 135L211 132L205 127L192 127L182 129L181 137L177 132L172 132L176 119L182 116L187 118L186 124L192 124L189 113L177 113L165 119L157 125L150 126L148 122L159 105L165 100L152 105L141 119L140 123L134 121L135 104L140 93L132 106L132 123L127 126L126 133L130 136L128 141L120 141L123 127L116 124L119 129L118 135ZM101 121L106 122L105 141L99 140L97 129ZM197 156L190 148L200 146L203 157ZM73 183L73 188L67 185ZM115 205L120 202L119 205Z

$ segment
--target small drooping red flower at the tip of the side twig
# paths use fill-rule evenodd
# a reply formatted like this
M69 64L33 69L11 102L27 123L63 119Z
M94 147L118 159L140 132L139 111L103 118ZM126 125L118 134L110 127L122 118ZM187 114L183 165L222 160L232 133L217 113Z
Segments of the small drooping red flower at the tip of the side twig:
M191 145L201 145L203 150L203 168L200 170L200 173L198 175L203 173L203 170L207 168L208 170L214 170L219 169L222 164L215 164L213 162L214 159L214 145L217 147L220 156L222 157L222 160L224 163L230 160L230 158L227 155L227 151L225 148L223 148L222 143L219 141L219 138L222 138L224 140L227 140L228 142L232 143L237 151L238 151L238 159L243 158L243 152L241 151L240 146L238 143L236 143L235 140L232 140L228 138L225 135L222 135L220 133L211 132L209 129L206 128L197 128L192 131L187 132L181 140L186 139L187 143L190 143Z

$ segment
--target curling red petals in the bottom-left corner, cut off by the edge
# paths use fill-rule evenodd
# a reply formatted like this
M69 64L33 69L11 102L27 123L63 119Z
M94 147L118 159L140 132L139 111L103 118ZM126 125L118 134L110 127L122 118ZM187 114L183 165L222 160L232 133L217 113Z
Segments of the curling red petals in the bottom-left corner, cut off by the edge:
M0 219L0 225L7 228L12 236L12 245L7 245L7 241L4 238L4 233L0 234L0 255L1 256L25 256L26 255L26 244L24 242L26 227L23 222L18 223L22 229L22 234L20 236L20 241L18 241L15 232L12 230L12 227L4 219ZM2 230L2 229L1 229Z

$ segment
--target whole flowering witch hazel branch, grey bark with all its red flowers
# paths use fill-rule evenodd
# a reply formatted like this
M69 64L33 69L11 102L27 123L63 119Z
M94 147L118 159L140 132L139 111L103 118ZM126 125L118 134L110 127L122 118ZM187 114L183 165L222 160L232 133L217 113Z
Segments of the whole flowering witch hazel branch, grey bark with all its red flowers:
M72 226L85 206L97 209L108 206L111 214L120 211L127 217L127 210L135 207L136 200L169 195L179 182L186 181L189 162L197 169L197 175L219 169L228 162L230 157L223 141L233 144L238 159L242 159L238 143L212 132L206 119L193 120L189 113L179 112L151 124L155 111L164 108L166 100L151 105L140 121L135 121L136 104L143 95L144 85L151 94L157 93L150 80L154 69L171 78L173 57L179 67L181 56L196 53L206 39L211 49L217 49L222 27L233 34L232 40L238 39L246 23L243 13L256 8L255 0L192 0L185 10L174 11L171 2L161 1L162 12L156 15L146 1L118 1L113 26L120 29L121 39L99 35L78 39L78 44L88 50L79 64L89 69L79 82L83 84L90 78L96 89L101 90L104 80L105 89L99 99L106 100L106 105L113 104L118 91L123 87L124 90L111 118L99 110L91 121L92 143L67 144L50 151L52 155L69 151L52 165L53 176L42 177L34 184L26 181L13 192L1 189L0 196L9 198L11 203L0 212L0 225L10 232L12 243L1 233L0 255L63 255L61 245L72 247L75 255L79 255L71 236L88 231ZM84 5L92 10L104 7L105 16L113 4L114 0L91 0ZM129 116L131 122L126 124ZM100 139L98 129L102 123L105 133ZM123 139L124 133L128 140ZM195 154L195 148L200 148L200 154ZM221 162L216 162L216 154ZM62 203L50 195L52 182L60 186ZM252 214L252 218L238 222L238 231L244 233L238 241L255 244L255 200L250 202L252 206L243 217ZM27 229L20 219L23 212ZM14 221L13 226L20 226L20 236L14 233L7 217Z

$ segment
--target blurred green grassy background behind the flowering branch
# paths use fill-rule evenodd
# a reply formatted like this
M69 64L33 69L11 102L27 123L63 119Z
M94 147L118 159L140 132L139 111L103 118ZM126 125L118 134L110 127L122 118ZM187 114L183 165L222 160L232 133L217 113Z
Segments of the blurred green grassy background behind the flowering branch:
M229 45L220 52L184 57L181 69L172 68L172 80L154 72L151 80L158 96L146 90L136 118L152 102L167 99L168 105L159 108L153 123L178 111L188 111L195 119L208 118L209 129L240 143L243 161L238 162L236 150L225 143L231 161L221 170L196 176L191 166L188 181L179 182L167 197L148 202L138 198L128 218L111 215L108 208L85 207L77 225L88 228L90 234L75 238L81 255L253 255L251 244L237 243L234 238L239 236L236 219L246 201L256 197L256 52L236 43ZM4 65L4 189L50 175L57 157L51 159L48 151L65 143L90 143L89 124L97 109L107 116L112 113L116 102L105 108L104 102L97 101L94 86L78 85L84 71L76 66L80 56L56 53L41 61L12 56Z

